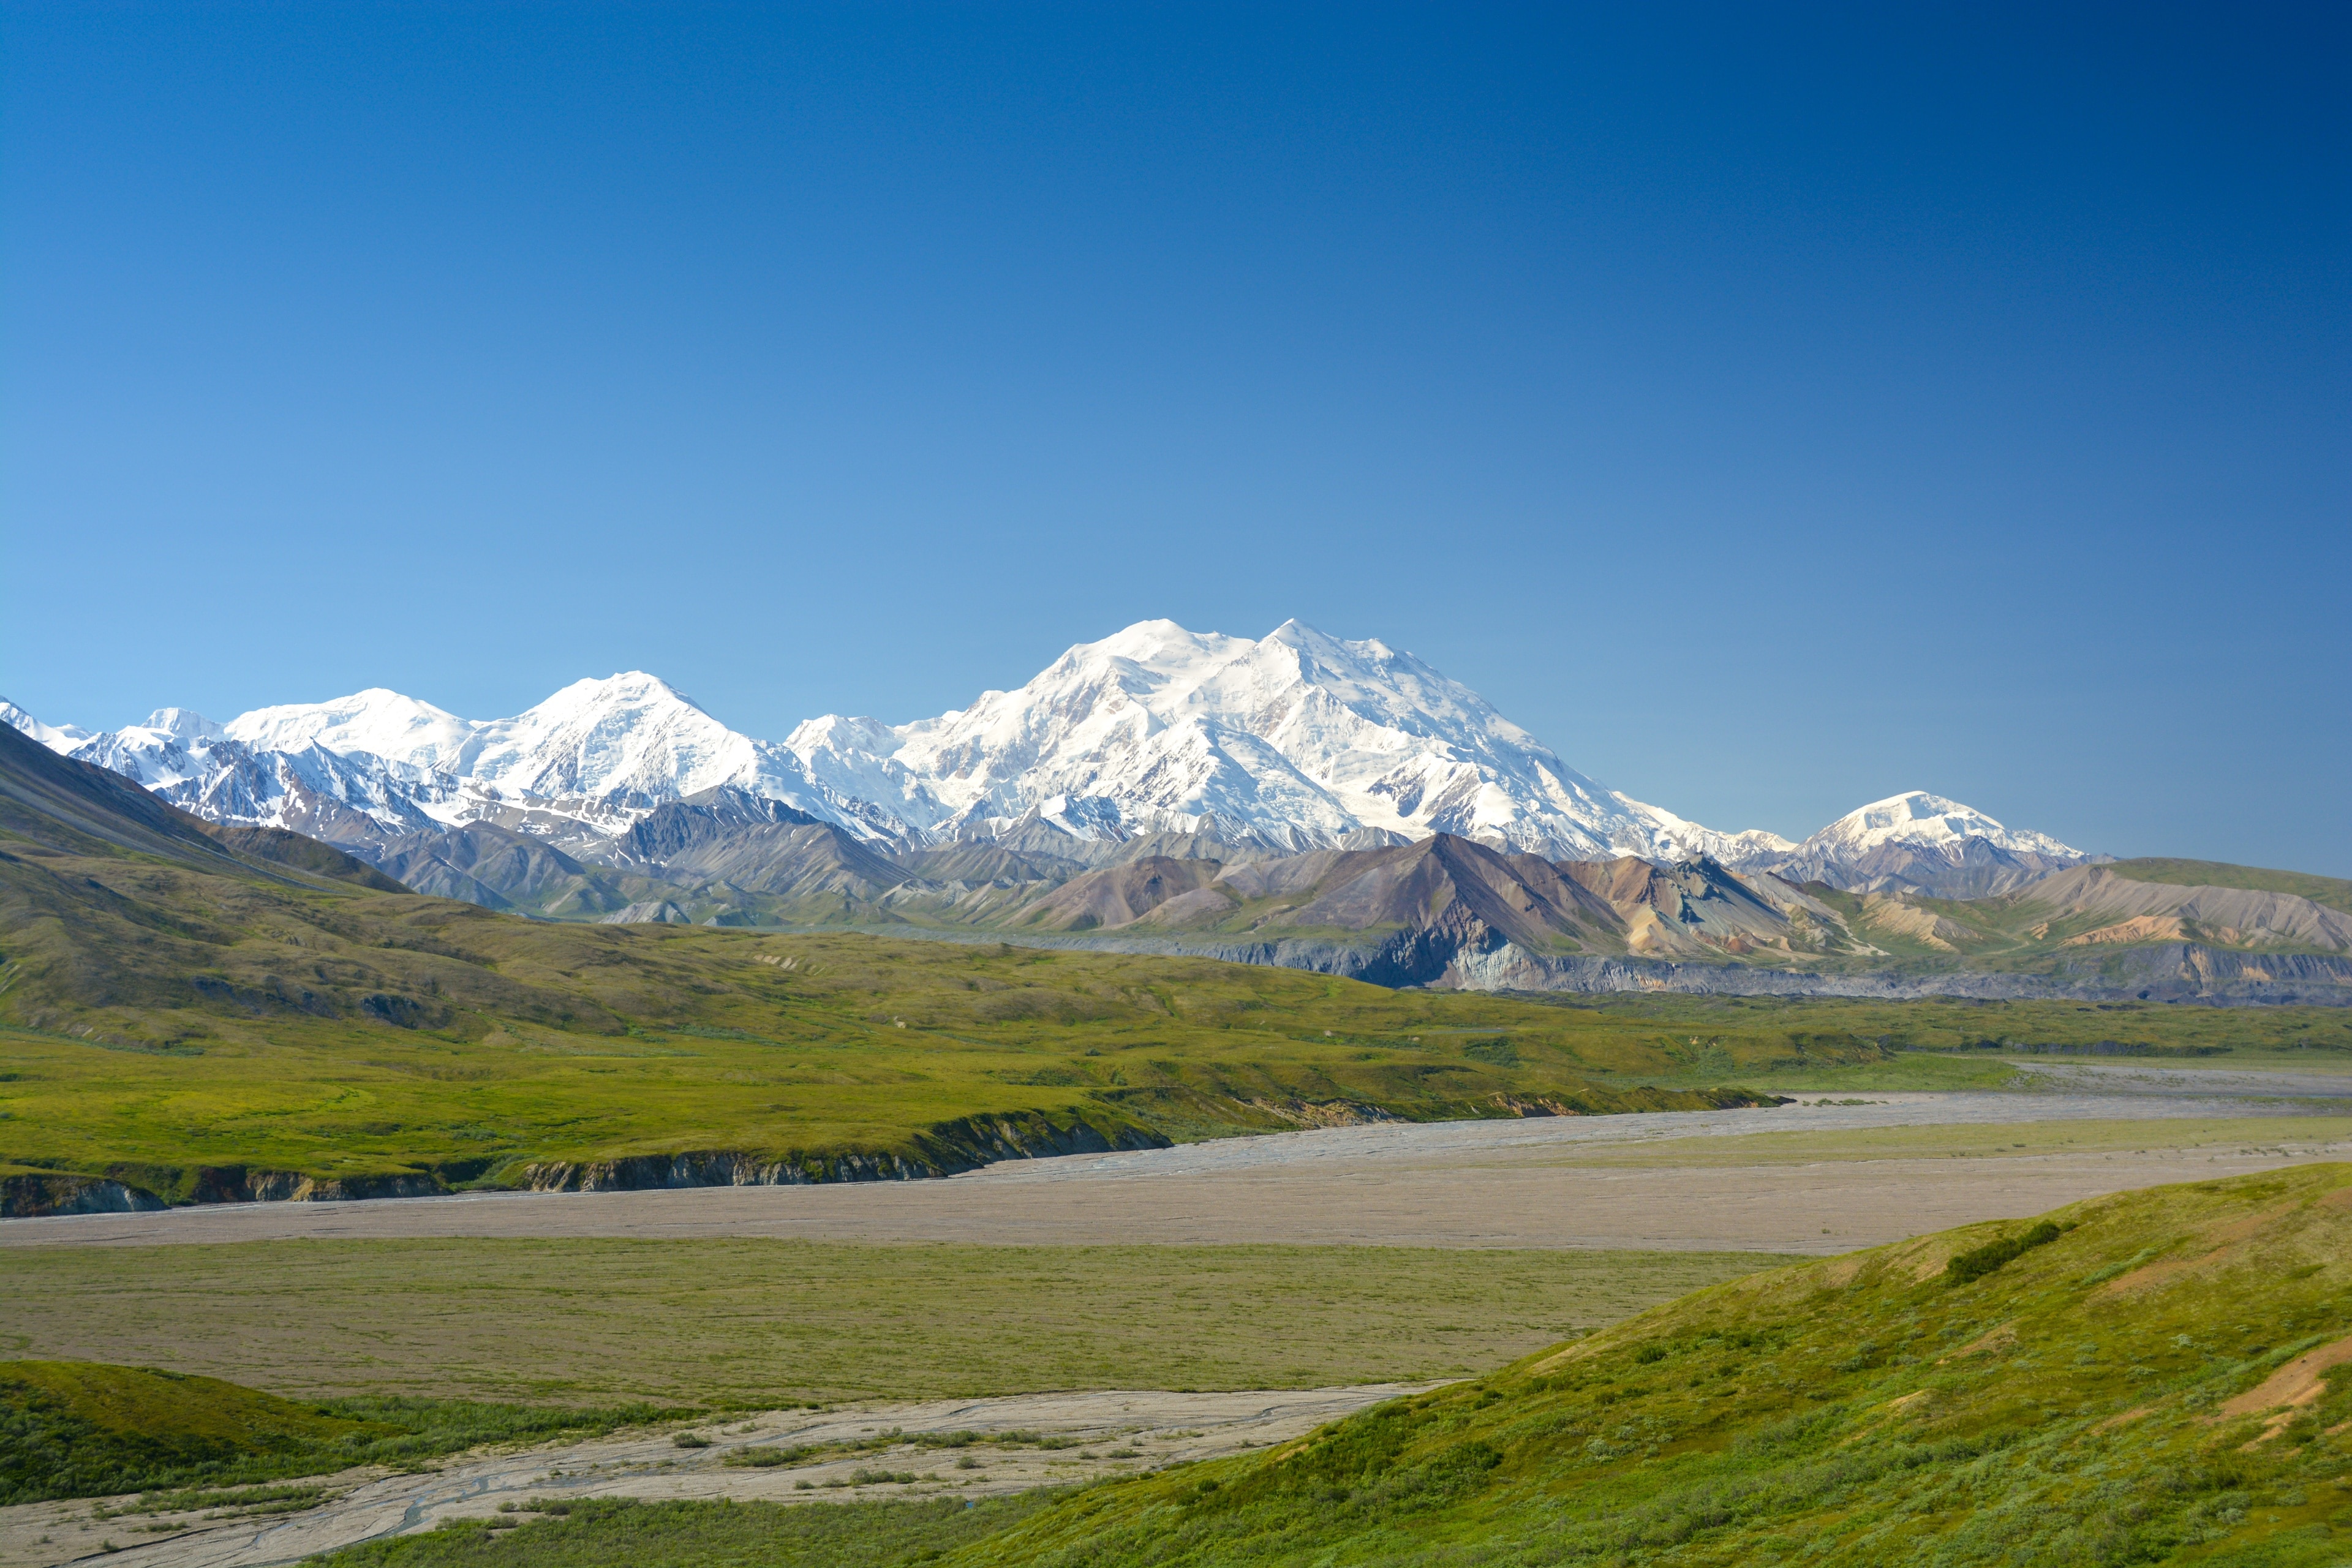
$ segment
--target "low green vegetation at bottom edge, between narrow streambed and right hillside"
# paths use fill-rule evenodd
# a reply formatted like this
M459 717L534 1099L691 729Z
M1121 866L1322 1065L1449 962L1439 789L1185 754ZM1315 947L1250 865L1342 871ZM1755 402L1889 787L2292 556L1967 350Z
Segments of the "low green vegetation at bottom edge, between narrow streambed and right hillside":
M908 1502L532 1502L310 1559L320 1568L896 1568L1011 1528L1061 1493Z

